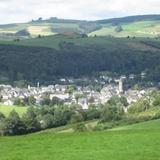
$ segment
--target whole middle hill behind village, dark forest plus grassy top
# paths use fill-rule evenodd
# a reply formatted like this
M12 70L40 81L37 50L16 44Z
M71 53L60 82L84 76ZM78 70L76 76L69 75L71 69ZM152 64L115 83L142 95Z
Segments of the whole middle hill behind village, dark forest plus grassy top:
M144 70L148 80L159 81L159 39L48 36L0 44L1 83L51 84L57 77L101 71L129 75Z

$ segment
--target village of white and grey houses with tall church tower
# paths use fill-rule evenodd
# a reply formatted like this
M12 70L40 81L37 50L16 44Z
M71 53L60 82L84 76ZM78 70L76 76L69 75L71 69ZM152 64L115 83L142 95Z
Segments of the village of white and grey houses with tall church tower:
M105 79L105 77L103 77ZM136 102L140 98L148 95L156 88L143 89L124 89L125 76L119 79L114 79L114 83L103 82L103 87L100 91L91 89L89 86L73 86L71 84L55 84L49 86L40 86L37 83L36 87L28 85L27 88L12 87L11 85L0 85L1 105L12 106L15 105L16 99L26 99L33 97L35 105L41 105L43 98L48 95L49 99L57 98L66 105L79 104L83 109L88 109L88 106L105 104L113 96L125 97L128 104ZM130 76L133 78L133 75ZM65 79L61 79L65 81ZM110 82L110 80L109 80Z

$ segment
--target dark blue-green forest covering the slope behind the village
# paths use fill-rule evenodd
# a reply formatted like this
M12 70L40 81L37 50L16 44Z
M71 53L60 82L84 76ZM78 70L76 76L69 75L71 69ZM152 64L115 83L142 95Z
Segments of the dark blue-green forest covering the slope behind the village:
M0 45L0 83L52 83L57 77L80 77L95 72L139 74L160 81L160 54L127 45L76 46L62 42L60 49Z

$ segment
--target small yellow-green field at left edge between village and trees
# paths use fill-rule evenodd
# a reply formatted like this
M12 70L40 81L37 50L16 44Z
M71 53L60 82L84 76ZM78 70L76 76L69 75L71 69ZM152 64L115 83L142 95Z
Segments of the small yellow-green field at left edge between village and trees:
M27 107L17 107L17 106L0 106L0 112L8 116L9 113L15 110L20 116L27 111Z

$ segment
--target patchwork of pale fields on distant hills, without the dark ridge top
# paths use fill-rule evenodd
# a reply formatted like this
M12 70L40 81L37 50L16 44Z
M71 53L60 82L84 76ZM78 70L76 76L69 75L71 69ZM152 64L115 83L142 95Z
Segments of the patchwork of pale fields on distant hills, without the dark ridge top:
M63 32L78 32L86 33L89 36L107 36L111 35L114 37L126 37L126 36L136 36L136 37L156 37L160 35L160 20L150 19L146 20L135 20L132 22L120 22L118 25L121 25L123 31L116 32L115 28L117 25L110 23L98 23L97 21L92 23L89 22L62 22L61 20L57 22L28 22L28 23L17 23L17 24L8 24L0 25L0 39L7 39L2 36L4 33L16 33L20 30L28 30L32 37L37 37L38 35L49 36L57 33ZM81 27L81 24L85 24L86 27ZM99 26L94 28L94 24ZM88 30L89 28L89 30ZM12 39L14 39L12 37Z

